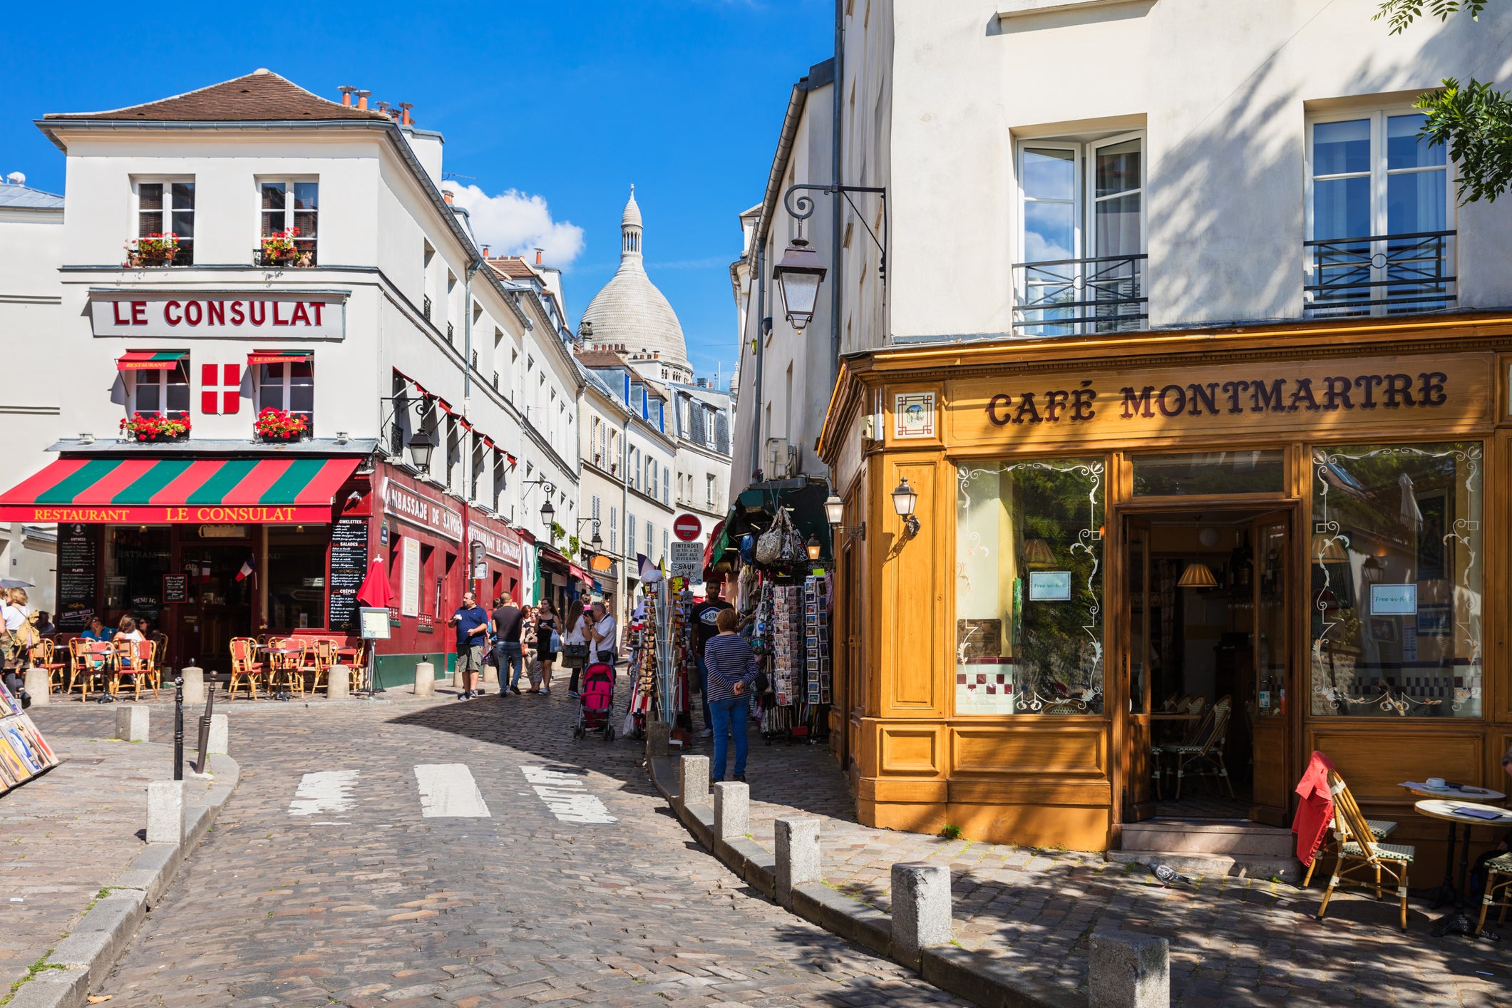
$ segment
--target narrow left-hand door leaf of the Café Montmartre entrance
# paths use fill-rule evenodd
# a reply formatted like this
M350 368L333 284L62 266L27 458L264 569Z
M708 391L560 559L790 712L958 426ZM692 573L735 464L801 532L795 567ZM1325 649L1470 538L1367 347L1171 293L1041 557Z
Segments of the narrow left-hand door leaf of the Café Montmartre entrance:
M1149 521L1125 518L1123 544L1128 571L1123 612L1123 822L1155 815L1154 766L1151 765L1149 709Z

